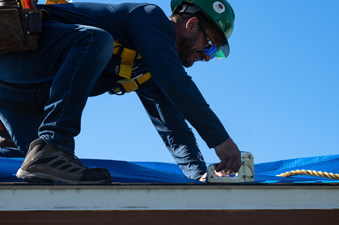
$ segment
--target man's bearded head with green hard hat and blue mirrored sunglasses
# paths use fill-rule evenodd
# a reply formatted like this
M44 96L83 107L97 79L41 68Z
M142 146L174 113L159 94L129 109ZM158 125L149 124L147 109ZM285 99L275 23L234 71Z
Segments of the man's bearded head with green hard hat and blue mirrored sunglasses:
M202 52L205 56L197 55L197 59L208 61L214 57L226 58L228 56L230 47L227 39L231 36L234 27L234 12L228 2L225 0L171 0L171 8L173 15L169 18L170 20L177 24L186 23L187 32L196 32L193 36L184 35L177 46L184 66L192 66L196 61L192 59L194 55L192 56L188 50L199 47L194 44L200 42L204 44Z

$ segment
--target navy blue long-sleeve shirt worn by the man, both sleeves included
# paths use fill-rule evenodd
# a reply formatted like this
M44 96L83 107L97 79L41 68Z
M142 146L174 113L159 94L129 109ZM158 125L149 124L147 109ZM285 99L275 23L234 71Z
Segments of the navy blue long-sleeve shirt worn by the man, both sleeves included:
M137 73L150 72L151 80L136 91L167 149L187 177L206 172L190 122L210 148L229 137L206 103L192 77L187 75L176 51L176 33L162 9L147 3L67 3L38 5L52 20L101 28L119 43L136 49L143 62ZM91 96L115 87L118 77L112 58L97 80Z

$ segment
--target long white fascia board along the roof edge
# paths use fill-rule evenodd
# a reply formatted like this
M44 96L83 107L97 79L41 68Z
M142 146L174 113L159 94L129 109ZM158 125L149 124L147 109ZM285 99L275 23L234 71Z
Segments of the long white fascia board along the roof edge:
M0 185L0 210L338 208L338 185Z

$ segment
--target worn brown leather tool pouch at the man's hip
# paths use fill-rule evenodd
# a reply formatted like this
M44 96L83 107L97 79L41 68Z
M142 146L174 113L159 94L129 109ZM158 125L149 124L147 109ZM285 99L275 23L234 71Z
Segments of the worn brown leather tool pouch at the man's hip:
M16 0L0 0L0 54L36 49L45 20L44 9L19 10Z

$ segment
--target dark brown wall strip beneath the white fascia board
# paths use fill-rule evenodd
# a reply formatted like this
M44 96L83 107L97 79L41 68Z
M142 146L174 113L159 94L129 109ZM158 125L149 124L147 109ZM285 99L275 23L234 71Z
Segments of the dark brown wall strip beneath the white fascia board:
M339 209L0 211L0 224L338 225L338 215Z

